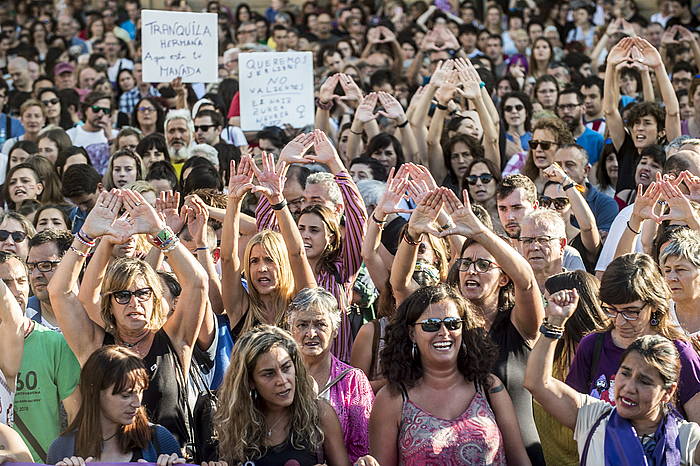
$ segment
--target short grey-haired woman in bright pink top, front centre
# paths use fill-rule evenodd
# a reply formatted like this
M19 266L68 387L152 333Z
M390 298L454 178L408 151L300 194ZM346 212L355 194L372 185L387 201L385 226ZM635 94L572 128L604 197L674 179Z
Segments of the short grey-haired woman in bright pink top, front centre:
M355 462L369 452L374 392L364 372L331 354L331 343L340 326L338 302L324 288L304 288L289 304L287 319L304 366L316 382L318 397L333 406L343 429L345 448Z

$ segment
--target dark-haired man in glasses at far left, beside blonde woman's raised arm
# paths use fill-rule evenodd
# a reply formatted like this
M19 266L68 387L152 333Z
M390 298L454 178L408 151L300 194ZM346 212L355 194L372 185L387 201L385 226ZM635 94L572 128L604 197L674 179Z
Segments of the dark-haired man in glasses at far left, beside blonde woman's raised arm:
M27 269L29 284L34 296L29 298L25 315L44 327L60 332L58 321L51 308L46 287L53 277L63 255L70 248L73 235L65 230L44 230L29 240Z

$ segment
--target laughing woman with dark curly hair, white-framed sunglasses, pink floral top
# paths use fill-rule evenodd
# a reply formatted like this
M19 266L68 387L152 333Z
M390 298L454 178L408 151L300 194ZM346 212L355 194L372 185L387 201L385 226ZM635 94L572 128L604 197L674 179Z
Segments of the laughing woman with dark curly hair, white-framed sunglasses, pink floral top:
M454 288L427 286L409 296L382 352L388 385L370 417L377 461L528 464L513 404L491 374L496 354L483 319Z

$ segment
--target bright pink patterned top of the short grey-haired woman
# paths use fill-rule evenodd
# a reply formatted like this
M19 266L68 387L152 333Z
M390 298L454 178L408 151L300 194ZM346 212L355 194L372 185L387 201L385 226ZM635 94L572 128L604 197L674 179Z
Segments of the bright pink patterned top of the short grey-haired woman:
M332 354L328 381L334 380L346 369L350 369L350 372L326 392L326 399L338 415L345 448L350 461L354 463L359 457L369 454L369 415L374 392L364 372L348 366Z

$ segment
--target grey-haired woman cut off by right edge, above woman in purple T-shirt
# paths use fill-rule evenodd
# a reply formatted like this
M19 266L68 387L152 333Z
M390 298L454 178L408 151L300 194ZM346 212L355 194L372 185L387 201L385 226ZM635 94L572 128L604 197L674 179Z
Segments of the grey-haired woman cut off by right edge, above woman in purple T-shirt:
M661 250L659 265L671 289L671 322L697 343L695 340L700 338L700 233L688 228L671 233Z

